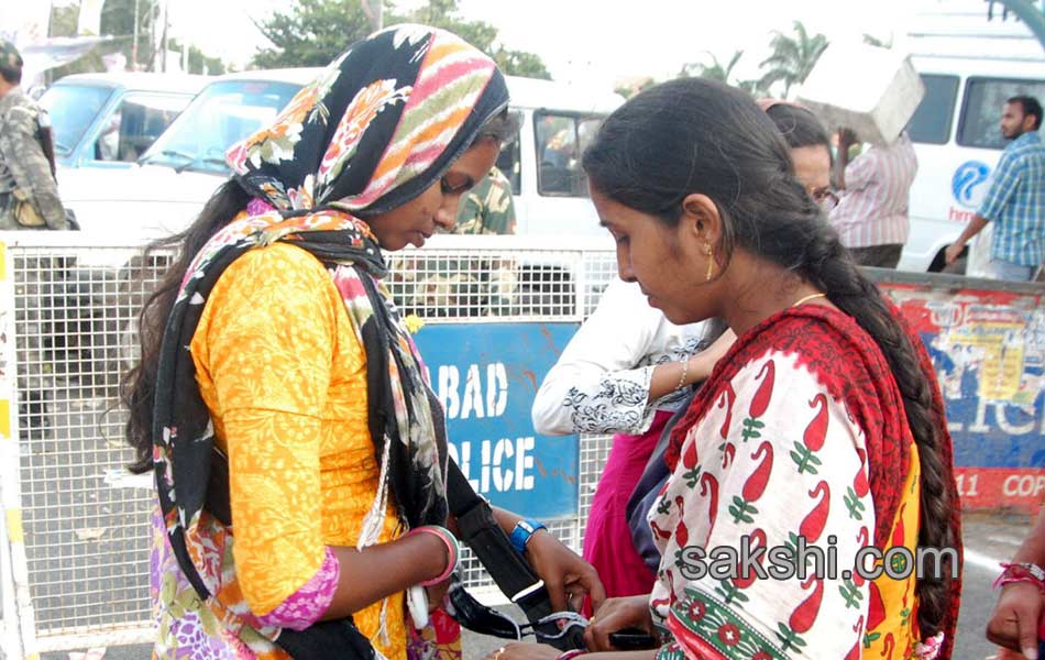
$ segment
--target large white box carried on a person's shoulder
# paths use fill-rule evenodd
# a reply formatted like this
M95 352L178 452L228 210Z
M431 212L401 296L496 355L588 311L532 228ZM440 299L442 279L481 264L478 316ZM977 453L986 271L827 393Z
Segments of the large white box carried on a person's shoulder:
M892 144L911 121L925 87L902 52L865 44L831 44L799 90L798 100L828 129L856 131L861 142Z

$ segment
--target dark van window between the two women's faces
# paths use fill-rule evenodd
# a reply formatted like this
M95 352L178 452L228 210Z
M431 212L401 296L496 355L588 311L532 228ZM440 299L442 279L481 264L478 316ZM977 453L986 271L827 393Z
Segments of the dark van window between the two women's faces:
M586 197L581 154L595 136L601 117L552 112L534 114L537 140L537 191L552 197Z

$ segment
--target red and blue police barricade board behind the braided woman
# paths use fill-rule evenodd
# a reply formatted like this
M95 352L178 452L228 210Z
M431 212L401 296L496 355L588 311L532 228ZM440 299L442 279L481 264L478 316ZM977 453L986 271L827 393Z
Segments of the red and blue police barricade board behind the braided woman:
M1045 501L1041 294L881 286L933 359L963 507L1037 512Z

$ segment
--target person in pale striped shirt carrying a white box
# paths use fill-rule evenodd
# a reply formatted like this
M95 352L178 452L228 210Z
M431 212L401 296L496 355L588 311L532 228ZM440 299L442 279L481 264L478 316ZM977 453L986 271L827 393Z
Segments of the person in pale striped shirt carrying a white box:
M858 264L895 268L911 231L908 206L919 161L906 133L888 146L871 146L850 163L849 147L857 142L853 131L838 132L838 206L831 211L831 223Z

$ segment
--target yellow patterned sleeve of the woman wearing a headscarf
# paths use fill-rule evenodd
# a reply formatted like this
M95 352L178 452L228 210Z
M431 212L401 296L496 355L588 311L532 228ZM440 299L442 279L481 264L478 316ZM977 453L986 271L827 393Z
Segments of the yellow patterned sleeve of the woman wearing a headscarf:
M237 575L256 616L309 584L326 559L320 439L340 305L315 257L272 245L222 273L194 337L229 455Z

